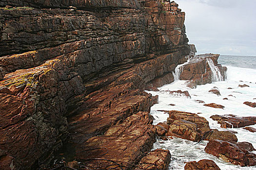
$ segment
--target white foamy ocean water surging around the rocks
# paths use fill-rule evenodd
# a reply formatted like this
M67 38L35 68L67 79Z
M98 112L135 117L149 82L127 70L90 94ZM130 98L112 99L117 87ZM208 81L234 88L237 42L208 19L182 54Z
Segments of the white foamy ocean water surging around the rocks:
M184 96L173 96L167 92L147 91L152 95L159 96L159 103L151 107L151 115L155 118L154 124L166 121L168 114L158 110L178 110L191 113L199 113L198 115L206 118L209 125L213 129L220 131L232 130L236 131L238 142L250 142L256 148L256 133L249 132L243 128L221 128L217 121L210 119L212 115L234 114L237 116L256 116L256 108L247 106L243 102L256 102L256 57L247 56L220 56L218 63L226 66L227 79L225 81L213 82L212 84L198 85L197 88L191 89L185 85L186 81L177 80L169 85L164 85L159 90L187 90L191 99ZM242 81L242 82L241 82ZM249 85L250 87L238 87L238 85ZM221 96L209 93L216 86ZM233 89L227 89L232 87ZM233 96L229 96L233 95ZM228 98L228 100L223 100ZM225 106L224 109L211 108L203 106L203 103L197 103L195 100L201 100L205 103L217 103ZM175 104L171 106L169 104ZM256 128L256 125L251 127ZM184 166L188 161L199 161L201 159L213 160L221 170L256 170L254 167L240 167L231 163L226 163L217 157L205 153L204 148L208 141L202 141L200 144L185 139L174 138L163 141L157 139L153 149L168 149L172 154L170 170L184 170ZM256 153L256 152L254 152Z

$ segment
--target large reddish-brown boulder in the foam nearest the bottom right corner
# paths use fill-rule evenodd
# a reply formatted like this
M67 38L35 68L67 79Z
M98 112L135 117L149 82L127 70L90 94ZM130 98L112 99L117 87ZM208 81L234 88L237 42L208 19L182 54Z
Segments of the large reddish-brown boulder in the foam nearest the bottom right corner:
M210 140L204 150L206 153L213 154L226 162L240 165L241 167L256 165L256 154L235 143Z

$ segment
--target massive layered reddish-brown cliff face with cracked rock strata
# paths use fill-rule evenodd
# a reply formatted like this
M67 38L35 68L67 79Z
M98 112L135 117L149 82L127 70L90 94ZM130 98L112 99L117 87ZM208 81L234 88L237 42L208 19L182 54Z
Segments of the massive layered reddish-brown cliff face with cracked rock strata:
M168 0L1 0L5 5L12 5L0 8L5 170L47 164L63 141L75 152L98 147L89 141L149 111L154 100L144 88L171 83L190 53L185 14ZM155 130L139 113L148 135L135 134L138 146L127 146L140 156L117 159L138 163L150 151Z

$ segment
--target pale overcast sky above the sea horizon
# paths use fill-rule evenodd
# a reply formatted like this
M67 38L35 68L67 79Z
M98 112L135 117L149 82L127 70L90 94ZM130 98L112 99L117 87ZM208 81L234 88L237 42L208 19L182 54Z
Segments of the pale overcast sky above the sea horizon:
M175 0L197 54L256 56L256 0Z

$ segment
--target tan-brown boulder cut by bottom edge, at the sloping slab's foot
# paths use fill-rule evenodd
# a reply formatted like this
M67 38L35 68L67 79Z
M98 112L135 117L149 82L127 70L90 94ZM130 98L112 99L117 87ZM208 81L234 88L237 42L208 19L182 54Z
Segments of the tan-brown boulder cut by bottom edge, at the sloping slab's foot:
M138 166L139 166L139 169L141 170L145 170L145 169L168 170L168 165L170 164L170 162L171 162L170 151L157 149L157 150L151 151L146 156L144 156L140 160Z

